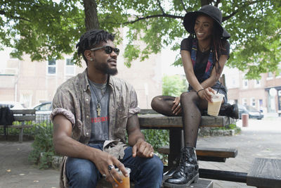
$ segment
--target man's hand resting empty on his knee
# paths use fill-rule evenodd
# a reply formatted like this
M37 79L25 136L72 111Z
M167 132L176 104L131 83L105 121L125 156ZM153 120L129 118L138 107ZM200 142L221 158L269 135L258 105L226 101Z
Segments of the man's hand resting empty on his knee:
M139 156L143 158L153 157L153 147L143 139L138 139L138 142L133 146L133 157Z

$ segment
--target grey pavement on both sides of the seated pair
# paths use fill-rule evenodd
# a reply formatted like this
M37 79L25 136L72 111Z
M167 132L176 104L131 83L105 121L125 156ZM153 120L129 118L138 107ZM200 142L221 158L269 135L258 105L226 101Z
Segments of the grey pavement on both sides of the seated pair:
M248 173L254 158L281 159L281 118L249 120L248 127L235 136L199 137L197 146L237 148L236 158L228 158L226 163L199 161L200 168L228 170ZM0 141L0 188L55 188L58 187L58 170L39 170L27 158L32 150L32 141ZM248 187L245 183L212 180L217 187Z

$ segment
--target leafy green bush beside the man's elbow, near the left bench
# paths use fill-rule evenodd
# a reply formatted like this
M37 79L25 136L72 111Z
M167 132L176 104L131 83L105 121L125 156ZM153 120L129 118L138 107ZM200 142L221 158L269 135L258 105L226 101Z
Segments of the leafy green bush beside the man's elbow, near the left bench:
M46 123L42 123L35 126L32 147L28 160L39 165L40 169L51 168L52 158L55 156L53 125L46 126Z

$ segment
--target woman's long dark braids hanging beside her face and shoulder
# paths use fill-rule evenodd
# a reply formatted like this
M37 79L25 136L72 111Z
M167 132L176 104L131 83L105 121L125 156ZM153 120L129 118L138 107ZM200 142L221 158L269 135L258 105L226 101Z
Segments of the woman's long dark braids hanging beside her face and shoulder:
M213 62L214 68L216 68L216 75L221 75L221 65L218 63L218 57L221 56L221 50L225 50L223 46L226 45L226 39L221 38L221 30L219 30L219 26L216 22L214 22L213 27L213 39L212 39L212 46L213 46Z

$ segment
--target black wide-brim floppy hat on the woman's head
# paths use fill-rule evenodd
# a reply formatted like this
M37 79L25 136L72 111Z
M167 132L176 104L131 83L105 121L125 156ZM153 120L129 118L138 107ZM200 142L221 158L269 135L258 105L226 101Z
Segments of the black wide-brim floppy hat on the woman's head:
M187 30L190 34L195 34L194 25L197 15L208 15L213 18L216 23L218 23L219 30L221 31L221 37L228 39L230 34L226 31L225 28L221 25L221 21L223 20L223 16L221 14L221 10L216 6L205 5L200 8L199 11L188 12L185 14L183 18L183 26L185 30Z

